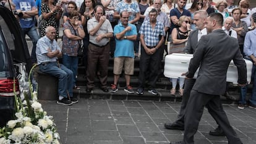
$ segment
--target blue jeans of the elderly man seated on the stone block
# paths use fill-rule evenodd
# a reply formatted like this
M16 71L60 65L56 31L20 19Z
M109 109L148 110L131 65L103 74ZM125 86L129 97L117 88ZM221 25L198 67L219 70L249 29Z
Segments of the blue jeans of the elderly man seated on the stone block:
M59 66L61 68L59 68ZM69 92L69 96L73 96L73 72L70 69L67 69L63 64L59 64L57 62L49 62L47 64L40 64L39 68L41 72L45 72L46 74L53 75L53 77L57 77L59 79L59 96L64 96L67 98L67 91Z

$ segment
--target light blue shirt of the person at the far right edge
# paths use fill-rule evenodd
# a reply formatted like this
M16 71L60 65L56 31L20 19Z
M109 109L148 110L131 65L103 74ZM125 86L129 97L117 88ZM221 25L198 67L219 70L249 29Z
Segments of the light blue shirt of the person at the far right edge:
M244 40L244 54L250 56L254 54L256 57L256 29L249 31L245 35Z

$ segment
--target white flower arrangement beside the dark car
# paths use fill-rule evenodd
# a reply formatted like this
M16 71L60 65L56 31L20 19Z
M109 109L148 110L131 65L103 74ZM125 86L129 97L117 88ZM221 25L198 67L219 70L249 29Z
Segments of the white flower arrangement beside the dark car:
M33 91L31 84L30 91ZM56 132L53 117L47 116L47 112L41 108L36 91L31 93L31 100L26 93L22 96L23 100L15 95L15 118L0 129L0 144L59 144L59 133Z

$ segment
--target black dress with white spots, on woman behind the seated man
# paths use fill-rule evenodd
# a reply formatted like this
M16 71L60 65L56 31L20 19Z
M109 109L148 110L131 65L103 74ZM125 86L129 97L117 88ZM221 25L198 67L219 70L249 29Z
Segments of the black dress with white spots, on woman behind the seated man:
M48 4L42 2L41 3L41 13L43 12L49 13L51 10L49 9ZM42 20L42 26L39 28L40 30L40 37L45 36L45 28L48 26L53 26L56 29L56 38L59 36L59 22L56 19L56 15L58 14L58 11L54 11L53 14L51 14L51 17L49 19L43 19Z

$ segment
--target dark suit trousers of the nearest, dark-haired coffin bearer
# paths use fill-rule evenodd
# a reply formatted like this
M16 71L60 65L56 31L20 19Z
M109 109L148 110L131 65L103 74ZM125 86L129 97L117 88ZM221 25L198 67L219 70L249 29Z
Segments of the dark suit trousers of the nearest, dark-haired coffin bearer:
M206 106L213 119L220 125L228 138L229 144L241 144L233 127L229 124L228 117L223 111L219 95L208 95L192 90L187 103L185 115L184 144L194 144L194 135L203 115L203 107Z

